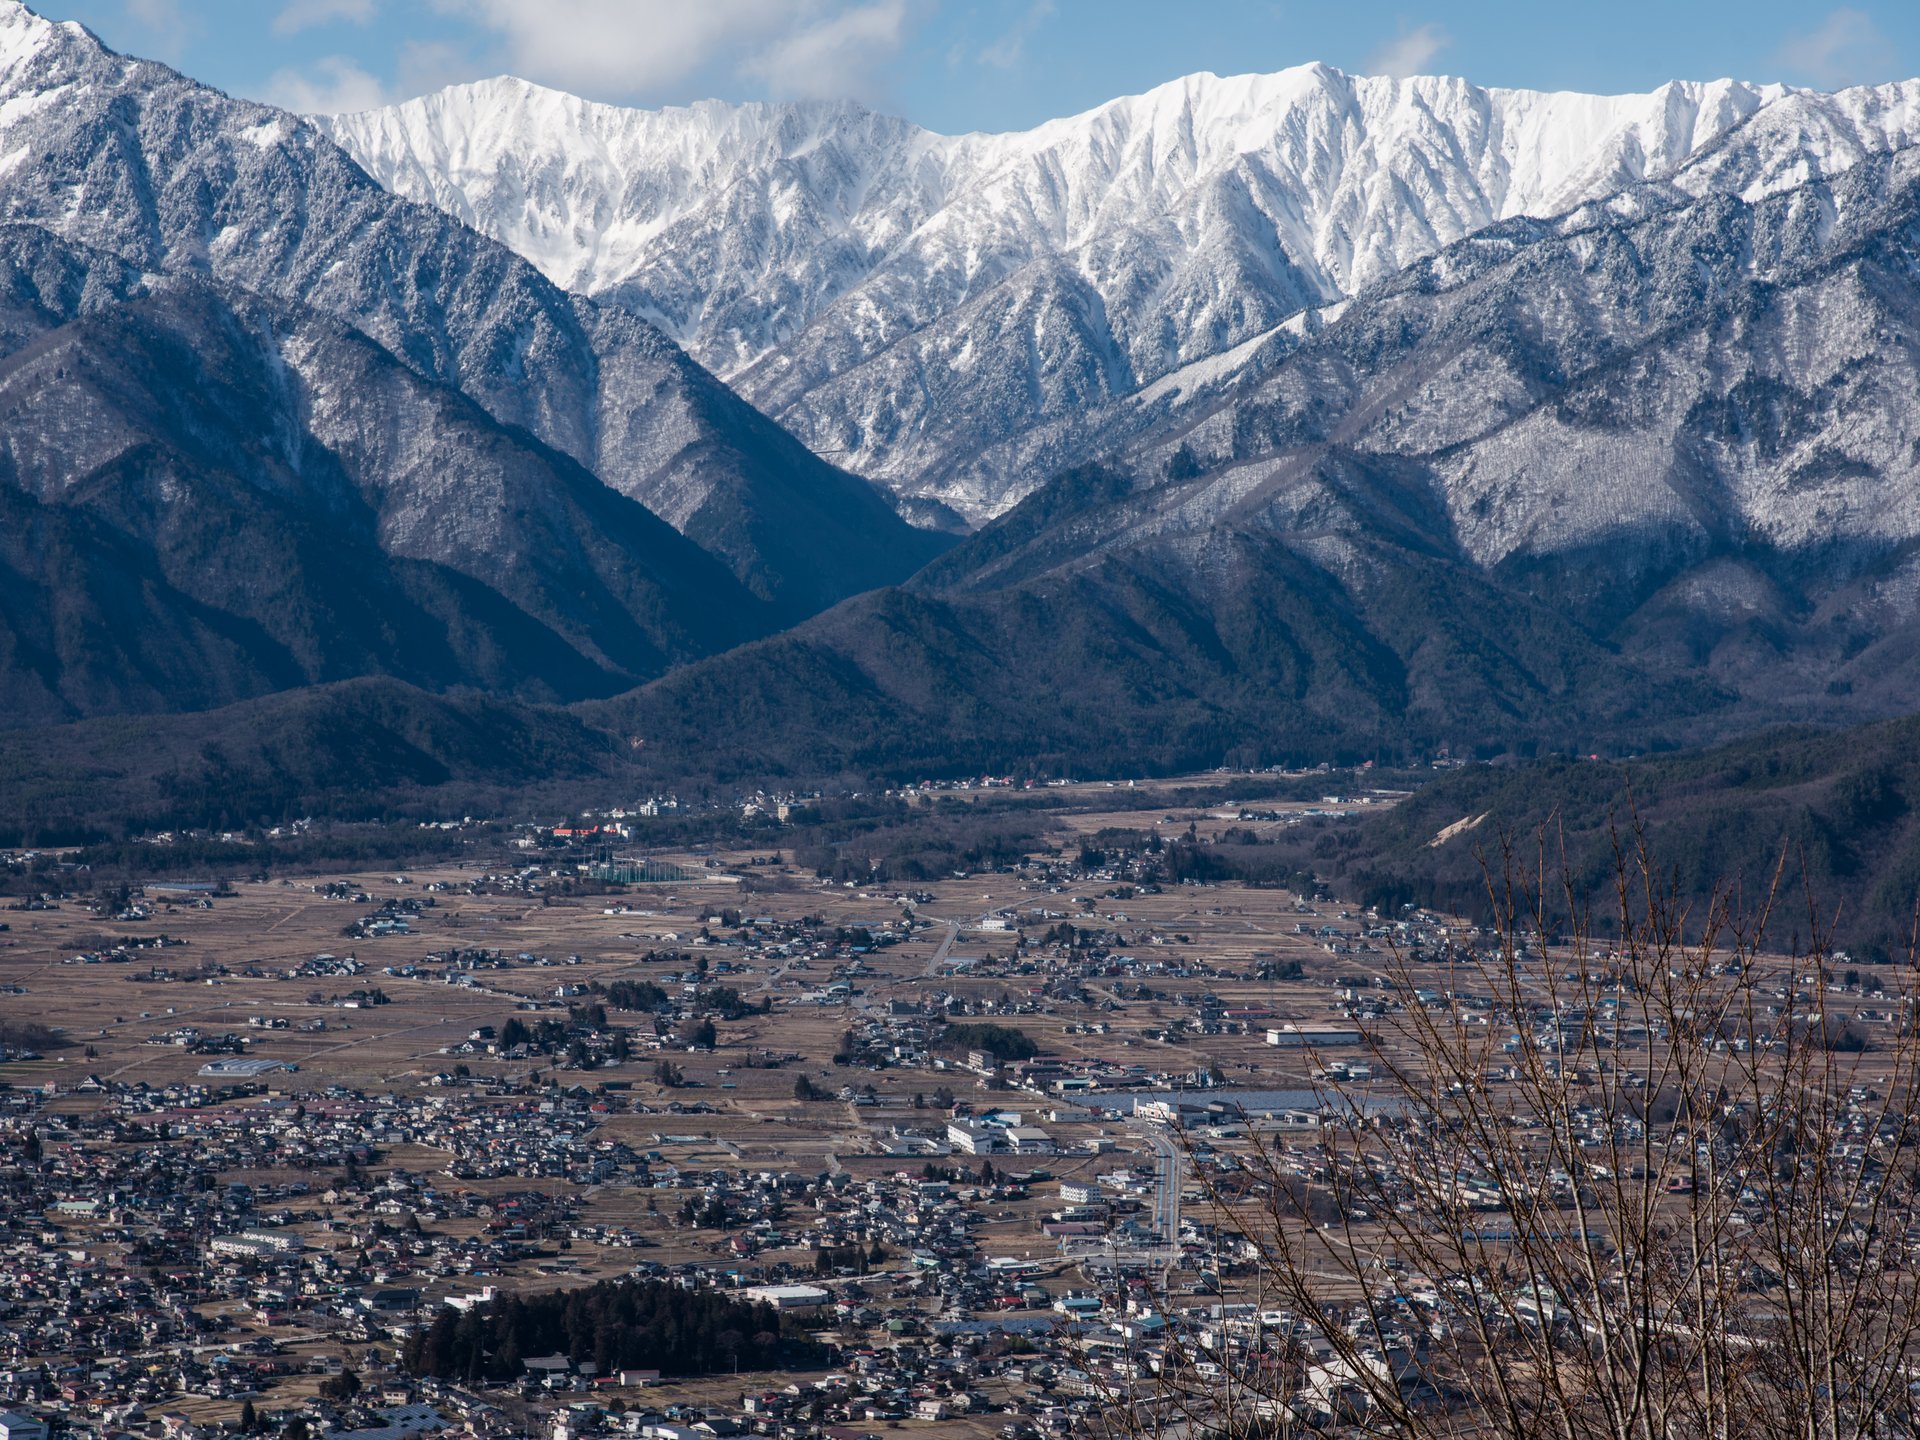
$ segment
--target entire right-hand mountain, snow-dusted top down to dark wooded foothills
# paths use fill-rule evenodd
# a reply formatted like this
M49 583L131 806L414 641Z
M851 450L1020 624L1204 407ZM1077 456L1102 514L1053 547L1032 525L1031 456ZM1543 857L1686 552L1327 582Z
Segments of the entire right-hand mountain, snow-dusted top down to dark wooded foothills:
M1910 714L1920 150L1498 223L1117 461L609 712L720 764L899 774ZM747 705L778 718L708 724Z

